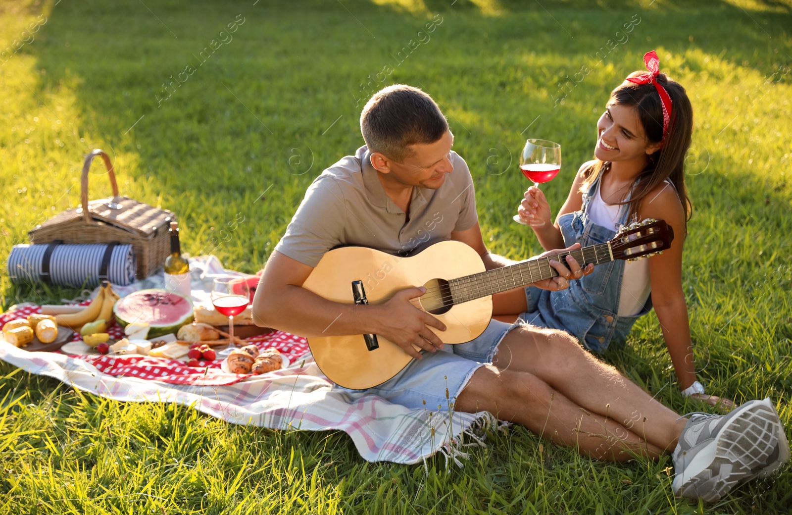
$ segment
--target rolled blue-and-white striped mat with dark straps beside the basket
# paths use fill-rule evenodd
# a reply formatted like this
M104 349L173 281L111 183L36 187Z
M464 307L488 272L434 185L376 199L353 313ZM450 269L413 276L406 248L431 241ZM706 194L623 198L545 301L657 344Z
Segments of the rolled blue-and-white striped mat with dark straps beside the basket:
M97 286L107 279L126 286L135 280L135 250L127 243L14 245L8 257L13 282L49 282L59 286Z

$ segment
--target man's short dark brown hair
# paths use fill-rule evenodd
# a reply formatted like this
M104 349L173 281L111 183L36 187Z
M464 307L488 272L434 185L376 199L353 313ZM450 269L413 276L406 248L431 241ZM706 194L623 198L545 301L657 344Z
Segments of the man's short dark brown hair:
M398 162L412 154L410 145L435 143L447 131L448 122L432 97L404 84L374 93L360 113L368 150Z

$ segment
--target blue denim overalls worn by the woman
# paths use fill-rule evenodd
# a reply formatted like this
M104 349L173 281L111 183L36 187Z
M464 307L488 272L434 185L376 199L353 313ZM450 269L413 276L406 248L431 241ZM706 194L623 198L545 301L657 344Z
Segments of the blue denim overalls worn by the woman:
M583 196L583 208L558 217L558 226L564 236L564 245L579 242L581 246L604 243L616 235L616 227L602 227L593 223L586 215L586 208L596 189L600 177L593 182ZM623 206L619 224L626 225L627 210ZM559 292L540 290L535 286L525 288L528 311L520 315L535 326L565 330L572 334L587 349L602 352L611 341L623 344L638 317L652 309L652 296L638 315L618 316L619 297L622 294L622 277L625 261L595 265L594 271L580 280L570 280L569 288ZM581 263L582 265L582 263Z

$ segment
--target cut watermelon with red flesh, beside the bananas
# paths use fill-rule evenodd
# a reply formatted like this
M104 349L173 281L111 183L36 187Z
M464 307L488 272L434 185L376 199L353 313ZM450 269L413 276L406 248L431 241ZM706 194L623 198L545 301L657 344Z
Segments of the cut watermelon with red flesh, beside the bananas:
M192 300L167 290L140 290L119 299L112 312L121 327L145 322L149 324L148 338L157 338L192 322Z

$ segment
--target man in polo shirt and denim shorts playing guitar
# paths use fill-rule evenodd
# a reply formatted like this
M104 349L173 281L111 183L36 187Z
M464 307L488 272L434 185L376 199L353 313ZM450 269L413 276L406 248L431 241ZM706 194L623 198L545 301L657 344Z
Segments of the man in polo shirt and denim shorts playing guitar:
M261 326L308 338L376 334L415 358L382 384L346 390L353 399L374 393L412 408L488 411L602 460L673 452L675 494L706 501L788 459L786 436L768 399L725 416L680 419L562 331L492 320L478 338L444 345L443 322L410 302L424 288L371 305L333 302L303 288L322 256L337 246L406 256L452 239L476 250L486 269L516 262L487 251L470 170L451 151L454 136L431 97L410 86L389 86L368 101L360 126L366 145L310 185L253 301L253 319ZM551 261L558 277L535 285L564 289L592 270L571 257L566 261Z

